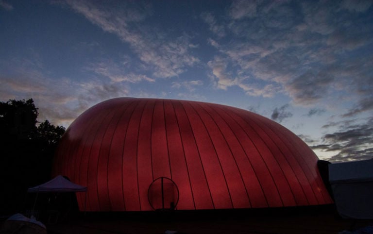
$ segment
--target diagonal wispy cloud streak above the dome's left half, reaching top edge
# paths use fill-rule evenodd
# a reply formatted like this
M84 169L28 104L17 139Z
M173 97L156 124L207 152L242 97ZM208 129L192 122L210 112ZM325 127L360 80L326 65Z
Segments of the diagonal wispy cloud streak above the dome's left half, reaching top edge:
M190 47L187 35L166 39L154 29L141 28L141 21L152 12L148 5L139 9L137 5L117 8L84 0L67 2L102 30L114 33L123 42L129 43L138 58L147 65L144 67L153 69L155 77L175 77L200 62L190 53L193 46Z

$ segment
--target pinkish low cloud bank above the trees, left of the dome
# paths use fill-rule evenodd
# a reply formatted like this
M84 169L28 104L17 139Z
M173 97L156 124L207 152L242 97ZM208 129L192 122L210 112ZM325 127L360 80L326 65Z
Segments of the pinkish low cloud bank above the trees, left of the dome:
M130 92L124 83L103 82L95 78L79 82L51 77L48 70L40 68L43 67L40 61L35 64L15 58L11 62L12 74L0 76L0 99L34 99L39 108L38 121L48 119L53 124L68 127L90 106L110 98L128 96Z

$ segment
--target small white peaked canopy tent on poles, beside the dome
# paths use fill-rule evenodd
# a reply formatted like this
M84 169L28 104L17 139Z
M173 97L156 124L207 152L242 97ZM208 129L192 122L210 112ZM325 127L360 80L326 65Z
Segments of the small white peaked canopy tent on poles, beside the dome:
M44 184L37 185L27 190L27 192L29 193L36 193L33 210L35 208L37 195L39 193L85 192L85 201L86 201L86 191L87 191L87 187L79 185L79 184L74 184L70 182L69 180L65 179L62 175L58 175L52 180Z

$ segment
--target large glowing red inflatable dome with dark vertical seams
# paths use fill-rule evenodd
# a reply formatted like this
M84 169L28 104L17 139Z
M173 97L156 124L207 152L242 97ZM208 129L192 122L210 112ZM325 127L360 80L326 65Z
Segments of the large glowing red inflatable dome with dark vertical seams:
M234 107L117 98L78 117L54 174L87 186L87 211L232 209L332 203L317 156L280 124Z

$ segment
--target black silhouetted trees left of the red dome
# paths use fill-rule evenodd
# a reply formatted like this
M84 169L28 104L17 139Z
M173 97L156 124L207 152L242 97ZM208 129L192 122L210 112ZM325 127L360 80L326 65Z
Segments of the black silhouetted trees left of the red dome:
M51 179L54 150L65 128L38 122L34 100L0 102L0 213L24 207L27 188Z

